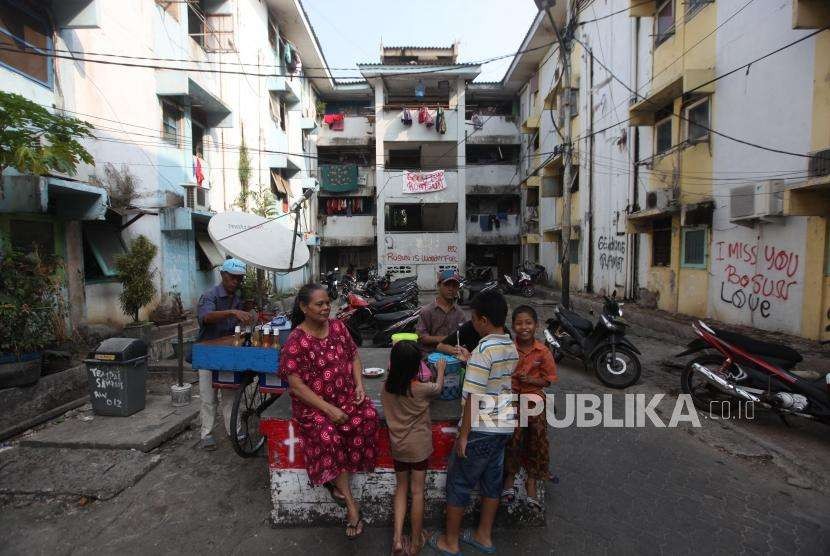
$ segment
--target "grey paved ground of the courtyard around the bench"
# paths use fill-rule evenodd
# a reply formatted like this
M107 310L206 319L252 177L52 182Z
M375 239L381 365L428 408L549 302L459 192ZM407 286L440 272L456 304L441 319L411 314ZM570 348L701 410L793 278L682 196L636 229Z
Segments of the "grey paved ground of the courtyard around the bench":
M537 308L544 318L552 304ZM632 340L644 352L643 376L627 392L667 394L661 412L668 420L679 369L663 363L681 346L639 332ZM364 353L379 362L385 351ZM622 413L622 394L602 387L579 363L563 361L559 374L557 395L611 393L615 416ZM827 427L804 421L787 427L759 412L753 420L704 418L701 428L549 433L556 481L548 487L547 524L499 529L502 554L827 554L830 548ZM109 500L0 495L0 553L390 549L385 528L356 541L346 540L342 528L272 529L264 457L243 460L225 438L216 452L203 452L191 428L151 454L158 463Z

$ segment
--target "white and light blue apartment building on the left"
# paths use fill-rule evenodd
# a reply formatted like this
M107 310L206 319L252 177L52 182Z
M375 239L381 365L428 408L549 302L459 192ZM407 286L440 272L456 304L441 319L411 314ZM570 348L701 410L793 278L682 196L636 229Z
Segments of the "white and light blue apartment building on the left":
M240 198L243 143L247 189L273 191L278 210L313 186L316 97L298 46L316 44L310 37L293 1L3 4L3 90L95 126L84 141L94 165L75 176L8 170L0 200L4 238L65 260L73 325L127 320L114 259L139 234L158 247L157 301L173 294L194 307L223 260L207 235L211 215L256 210ZM325 66L319 51L307 52L308 65ZM130 178L134 193L108 198L107 172ZM311 230L310 211L302 219ZM280 277L277 286L309 275Z

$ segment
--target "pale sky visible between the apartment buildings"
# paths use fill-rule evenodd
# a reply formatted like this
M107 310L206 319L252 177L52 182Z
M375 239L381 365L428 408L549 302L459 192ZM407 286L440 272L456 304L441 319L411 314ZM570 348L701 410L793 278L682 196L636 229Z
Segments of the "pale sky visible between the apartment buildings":
M330 67L378 62L388 46L449 46L460 42L461 62L515 52L533 18L533 0L302 0ZM408 7L406 17L402 7ZM486 64L476 81L499 81L510 59ZM357 70L332 71L355 77Z

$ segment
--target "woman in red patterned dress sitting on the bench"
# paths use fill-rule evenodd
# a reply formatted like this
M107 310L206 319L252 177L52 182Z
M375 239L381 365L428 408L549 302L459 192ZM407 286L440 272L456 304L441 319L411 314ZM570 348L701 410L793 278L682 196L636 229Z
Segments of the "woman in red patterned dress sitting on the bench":
M291 314L294 330L280 351L280 377L288 380L308 477L345 502L346 536L353 539L363 522L349 479L375 468L378 414L363 390L357 346L330 313L323 286L300 289Z

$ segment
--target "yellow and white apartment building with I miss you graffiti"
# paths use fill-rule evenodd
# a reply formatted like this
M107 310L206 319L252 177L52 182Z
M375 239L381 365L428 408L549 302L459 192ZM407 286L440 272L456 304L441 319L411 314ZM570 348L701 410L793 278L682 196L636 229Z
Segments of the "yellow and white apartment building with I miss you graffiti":
M536 62L519 91L523 206L539 217L523 256L553 284L567 241L573 290L830 337L830 32L815 34L830 10L786 4L589 2L573 14L570 106L540 12L510 71Z

